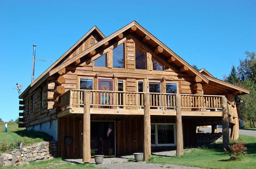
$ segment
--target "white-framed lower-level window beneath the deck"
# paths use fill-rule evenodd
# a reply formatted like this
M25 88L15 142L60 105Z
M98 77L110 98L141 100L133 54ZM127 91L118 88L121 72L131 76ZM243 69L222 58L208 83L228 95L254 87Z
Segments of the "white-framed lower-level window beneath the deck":
M151 123L152 146L175 146L176 125L174 123Z

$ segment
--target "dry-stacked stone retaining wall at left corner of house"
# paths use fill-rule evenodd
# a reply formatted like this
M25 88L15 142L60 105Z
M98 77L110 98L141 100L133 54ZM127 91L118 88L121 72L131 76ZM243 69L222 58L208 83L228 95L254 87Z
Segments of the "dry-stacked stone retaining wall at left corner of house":
M57 142L43 141L32 144L21 149L15 149L10 152L3 153L0 156L0 166L24 165L29 162L39 162L53 159L57 157Z

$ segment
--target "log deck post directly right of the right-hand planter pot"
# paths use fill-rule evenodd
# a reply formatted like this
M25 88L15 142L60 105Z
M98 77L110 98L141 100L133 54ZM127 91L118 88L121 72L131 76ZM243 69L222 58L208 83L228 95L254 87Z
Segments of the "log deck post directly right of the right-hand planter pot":
M151 157L151 126L149 111L149 93L144 93L144 161Z

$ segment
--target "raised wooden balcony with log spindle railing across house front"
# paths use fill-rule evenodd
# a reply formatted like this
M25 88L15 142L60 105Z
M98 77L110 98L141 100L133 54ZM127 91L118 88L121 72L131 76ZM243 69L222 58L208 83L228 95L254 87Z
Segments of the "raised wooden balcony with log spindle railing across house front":
M177 100L181 100L182 116L223 116L221 95L193 95L72 89L60 95L63 115L84 113L85 93L90 92L91 114L144 115L144 97L149 94L150 115L176 116ZM180 97L180 99L177 99ZM88 98L87 98L88 99ZM234 105L227 102L230 122ZM63 116L61 115L61 116ZM234 117L235 118L235 117Z

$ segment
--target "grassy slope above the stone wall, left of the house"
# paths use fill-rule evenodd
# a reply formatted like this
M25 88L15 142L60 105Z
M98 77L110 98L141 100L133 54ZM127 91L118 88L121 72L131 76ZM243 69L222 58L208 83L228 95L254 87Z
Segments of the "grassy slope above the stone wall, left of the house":
M0 152L17 148L20 141L23 146L34 144L40 141L52 140L52 136L43 132L27 131L25 128L18 128L18 124L8 124L7 132L4 132L5 125L0 124Z

